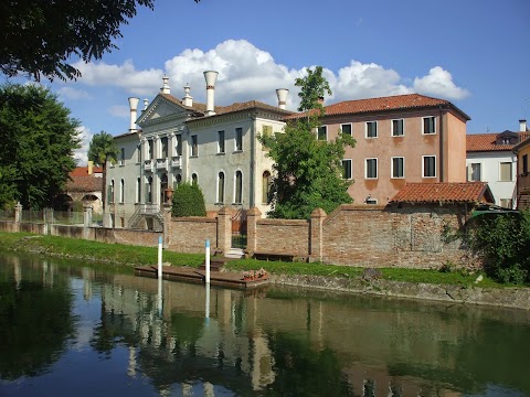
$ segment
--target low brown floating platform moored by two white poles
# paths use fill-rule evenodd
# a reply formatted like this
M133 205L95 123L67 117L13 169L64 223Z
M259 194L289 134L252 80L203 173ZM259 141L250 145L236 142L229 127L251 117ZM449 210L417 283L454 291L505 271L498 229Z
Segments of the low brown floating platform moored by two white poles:
M135 273L142 277L158 277L157 266L138 266L135 267ZM199 268L162 266L162 279L174 281L187 281L194 283L205 283L206 271ZM210 269L210 285L225 288L253 289L268 283L267 275L256 278L246 279L239 272L215 271Z

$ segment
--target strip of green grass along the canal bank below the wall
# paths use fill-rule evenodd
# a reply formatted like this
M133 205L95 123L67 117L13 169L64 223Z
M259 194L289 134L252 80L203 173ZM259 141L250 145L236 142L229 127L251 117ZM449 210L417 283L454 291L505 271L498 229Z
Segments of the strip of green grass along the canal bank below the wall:
M61 256L89 260L100 264L120 266L156 265L158 260L157 247L139 247L121 244L104 244L97 242L40 236L24 233L0 233L0 248L13 251L38 253L49 256ZM199 267L204 259L202 254L179 254L163 251L163 262L172 266ZM363 268L349 266L333 266L324 264L280 262L256 259L233 260L226 268L233 271L266 269L276 275L304 275L356 278L362 277ZM436 285L471 286L478 275L467 275L460 271L441 272L437 270L381 268L380 278L394 281L426 282ZM505 287L496 283L486 276L480 287Z

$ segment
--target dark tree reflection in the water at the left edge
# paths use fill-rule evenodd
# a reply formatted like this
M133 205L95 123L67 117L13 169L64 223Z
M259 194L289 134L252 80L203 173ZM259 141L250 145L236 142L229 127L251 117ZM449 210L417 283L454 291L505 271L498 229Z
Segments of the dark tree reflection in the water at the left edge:
M0 281L0 377L17 379L45 372L65 352L74 333L73 296L57 280L43 286L42 275Z

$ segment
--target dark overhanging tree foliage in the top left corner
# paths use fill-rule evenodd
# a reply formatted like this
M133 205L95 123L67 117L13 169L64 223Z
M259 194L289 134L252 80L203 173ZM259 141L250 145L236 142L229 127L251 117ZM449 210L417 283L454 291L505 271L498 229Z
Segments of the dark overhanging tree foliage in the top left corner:
M199 0L194 0L199 2ZM40 81L81 76L68 64L73 56L100 60L117 49L120 25L137 6L153 9L153 0L17 0L0 2L0 71Z

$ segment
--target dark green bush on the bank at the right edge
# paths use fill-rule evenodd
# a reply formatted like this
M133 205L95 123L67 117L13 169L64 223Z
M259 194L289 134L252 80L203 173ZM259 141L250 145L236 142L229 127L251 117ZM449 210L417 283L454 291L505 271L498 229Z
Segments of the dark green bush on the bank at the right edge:
M475 219L470 247L486 259L486 272L505 283L530 282L530 208Z

